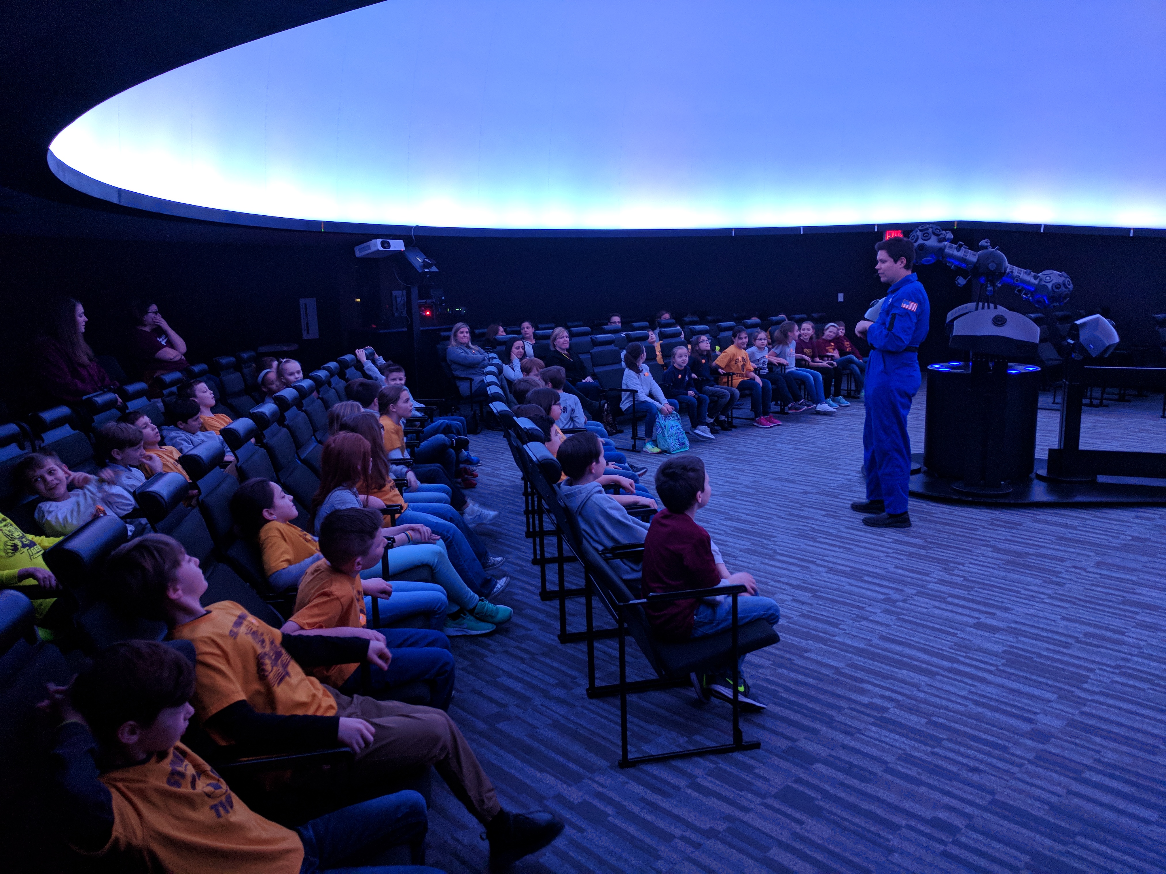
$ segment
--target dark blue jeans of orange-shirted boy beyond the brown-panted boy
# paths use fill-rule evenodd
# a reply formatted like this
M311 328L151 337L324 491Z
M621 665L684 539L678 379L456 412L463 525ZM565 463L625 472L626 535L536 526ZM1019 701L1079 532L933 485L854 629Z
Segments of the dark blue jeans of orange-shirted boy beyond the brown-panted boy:
M388 668L360 665L340 686L340 692L393 702L400 700L396 695L401 686L422 682L429 684L428 706L449 710L454 697L454 654L449 651L449 637L428 628L381 628L380 633L393 656Z

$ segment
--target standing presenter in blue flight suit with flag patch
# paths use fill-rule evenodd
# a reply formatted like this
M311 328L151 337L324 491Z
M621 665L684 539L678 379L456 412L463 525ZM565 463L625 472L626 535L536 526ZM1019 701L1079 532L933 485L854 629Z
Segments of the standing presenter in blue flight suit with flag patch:
M919 390L919 344L927 337L930 305L912 270L915 252L909 240L892 237L874 246L874 270L891 286L874 322L863 320L855 332L870 343L866 366L866 422L863 463L866 500L850 505L865 513L873 528L911 528L907 481L911 478L911 437L907 414Z

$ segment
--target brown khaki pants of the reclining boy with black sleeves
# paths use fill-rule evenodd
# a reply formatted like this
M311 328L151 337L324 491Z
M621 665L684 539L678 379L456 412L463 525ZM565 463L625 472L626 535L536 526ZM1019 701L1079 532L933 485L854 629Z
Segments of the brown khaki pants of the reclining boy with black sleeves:
M433 766L483 825L501 810L493 783L448 713L363 695L349 698L324 688L336 698L336 716L364 719L373 727L372 743L357 753L356 770L361 778L371 781L406 768Z

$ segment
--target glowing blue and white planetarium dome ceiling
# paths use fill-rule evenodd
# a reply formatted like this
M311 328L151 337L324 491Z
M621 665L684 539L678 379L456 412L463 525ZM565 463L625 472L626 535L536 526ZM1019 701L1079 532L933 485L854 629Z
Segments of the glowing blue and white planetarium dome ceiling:
M1166 227L1164 45L1158 0L394 0L136 85L50 164L255 224Z

